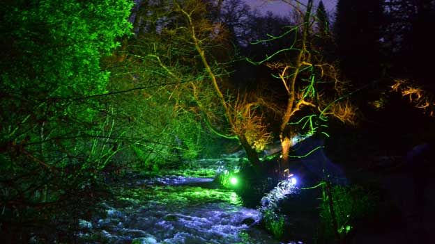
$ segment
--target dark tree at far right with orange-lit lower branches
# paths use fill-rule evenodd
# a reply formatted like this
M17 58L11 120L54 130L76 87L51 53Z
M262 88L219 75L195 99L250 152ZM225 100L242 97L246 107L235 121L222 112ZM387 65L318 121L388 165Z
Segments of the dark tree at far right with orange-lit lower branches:
M388 74L393 90L434 115L435 86L432 74L435 38L428 31L435 24L435 1L386 1L383 50L388 56Z

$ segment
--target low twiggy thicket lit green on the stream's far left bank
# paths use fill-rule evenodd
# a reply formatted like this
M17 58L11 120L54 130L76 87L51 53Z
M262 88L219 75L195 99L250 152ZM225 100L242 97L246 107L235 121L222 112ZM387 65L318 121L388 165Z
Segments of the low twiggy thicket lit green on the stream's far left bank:
M114 65L132 65L128 62L130 61ZM153 67L153 63L146 65ZM202 145L213 137L207 135L199 117L190 111L192 104L188 90L166 85L165 77L154 76L142 67L124 66L122 70L113 70L117 75L110 82L110 90L151 86L112 96L107 101L118 106L116 121L120 126L117 129L125 131L125 137L135 145L130 152L139 157L132 158L132 161L139 159L139 164L135 167L153 167L153 164L168 163L178 163L174 165L177 167L183 166L183 162L188 163L200 156L204 149ZM157 87L153 87L153 83L157 83ZM125 152L124 156L127 154Z

